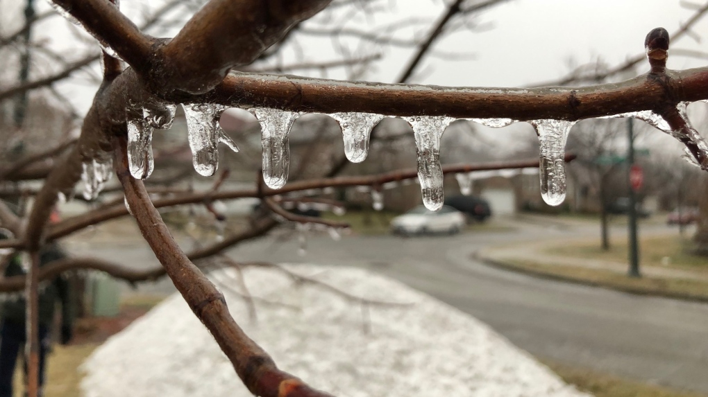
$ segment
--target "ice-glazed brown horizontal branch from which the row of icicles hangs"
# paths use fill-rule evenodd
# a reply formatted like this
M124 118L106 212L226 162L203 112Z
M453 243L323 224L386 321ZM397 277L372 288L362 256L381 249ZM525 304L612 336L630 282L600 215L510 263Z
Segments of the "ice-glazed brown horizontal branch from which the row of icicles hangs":
M345 82L258 73L233 73L206 95L176 102L217 102L292 112L366 112L458 119L578 120L653 110L667 102L708 99L708 68L667 71L668 81L644 74L622 83L581 88L453 88Z

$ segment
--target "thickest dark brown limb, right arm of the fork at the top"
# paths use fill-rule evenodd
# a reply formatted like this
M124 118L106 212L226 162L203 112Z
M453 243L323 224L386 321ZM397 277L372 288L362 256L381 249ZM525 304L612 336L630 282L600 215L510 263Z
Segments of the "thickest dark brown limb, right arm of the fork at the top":
M233 66L251 64L295 23L314 16L330 1L211 0L159 49L156 57L164 64L150 73L152 81L163 90L205 93Z

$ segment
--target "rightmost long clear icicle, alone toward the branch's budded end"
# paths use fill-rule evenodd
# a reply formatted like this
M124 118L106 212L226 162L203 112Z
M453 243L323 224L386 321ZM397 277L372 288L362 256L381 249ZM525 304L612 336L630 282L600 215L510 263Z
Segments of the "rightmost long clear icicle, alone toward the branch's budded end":
M541 196L549 206L559 206L566 198L565 148L575 122L535 120L530 122L538 134Z

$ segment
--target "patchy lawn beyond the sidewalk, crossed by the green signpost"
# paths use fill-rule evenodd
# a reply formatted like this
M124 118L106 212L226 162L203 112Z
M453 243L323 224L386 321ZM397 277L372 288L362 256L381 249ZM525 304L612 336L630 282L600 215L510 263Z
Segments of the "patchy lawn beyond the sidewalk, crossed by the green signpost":
M639 259L643 266L665 266L694 271L708 271L708 258L690 254L691 244L681 237L647 237L639 243ZM548 254L573 256L583 259L600 259L627 263L626 239L614 239L610 250L603 251L600 242L564 244L562 247L546 249Z

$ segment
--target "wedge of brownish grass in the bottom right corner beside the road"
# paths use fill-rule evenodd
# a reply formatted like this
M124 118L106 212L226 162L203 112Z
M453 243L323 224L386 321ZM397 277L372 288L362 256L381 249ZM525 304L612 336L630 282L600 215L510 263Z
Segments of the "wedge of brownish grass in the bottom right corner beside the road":
M562 365L552 360L541 361L567 383L574 384L579 390L592 393L596 397L706 397L702 393L668 389L587 368Z

